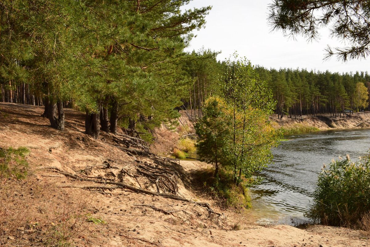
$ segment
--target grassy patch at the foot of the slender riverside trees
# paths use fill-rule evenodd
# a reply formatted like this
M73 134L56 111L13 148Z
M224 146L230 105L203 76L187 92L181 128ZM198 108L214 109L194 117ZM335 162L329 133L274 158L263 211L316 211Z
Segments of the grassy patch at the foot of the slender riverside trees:
M252 207L248 188L240 183L236 186L232 174L224 169L219 170L218 177L213 177L215 171L211 168L198 170L195 180L218 201L220 207L225 209L244 209Z

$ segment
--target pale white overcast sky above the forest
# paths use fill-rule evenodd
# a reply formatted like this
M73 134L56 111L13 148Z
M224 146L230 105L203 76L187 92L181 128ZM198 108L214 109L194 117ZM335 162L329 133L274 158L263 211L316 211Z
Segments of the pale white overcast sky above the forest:
M268 5L272 0L193 0L186 9L212 6L206 16L205 28L194 31L185 50L198 51L202 47L221 51L218 60L228 59L235 51L253 65L265 68L300 68L331 72L370 72L367 60L337 61L336 57L323 60L327 45L343 47L341 41L329 37L327 29L320 30L320 40L307 41L285 37L282 31L271 32L268 25Z

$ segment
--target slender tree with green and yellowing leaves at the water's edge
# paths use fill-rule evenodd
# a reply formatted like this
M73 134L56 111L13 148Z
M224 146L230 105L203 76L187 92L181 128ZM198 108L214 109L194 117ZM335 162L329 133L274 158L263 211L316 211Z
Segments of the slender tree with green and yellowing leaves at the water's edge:
M252 183L254 173L271 162L270 148L276 143L277 132L268 115L275 102L249 60L228 60L227 66L224 88L230 135L226 136L224 165L231 166L235 183L239 184L242 176Z

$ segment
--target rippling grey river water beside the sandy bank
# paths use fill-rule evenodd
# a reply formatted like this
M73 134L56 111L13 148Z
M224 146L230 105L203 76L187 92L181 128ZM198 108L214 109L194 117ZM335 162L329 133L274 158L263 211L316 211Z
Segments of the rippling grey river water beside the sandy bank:
M272 150L274 163L260 173L263 182L250 189L258 223L303 223L323 164L339 156L352 160L370 148L370 129L323 131L285 137ZM292 223L292 219L294 223Z

